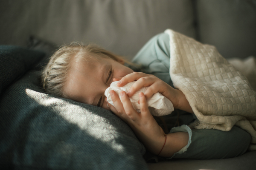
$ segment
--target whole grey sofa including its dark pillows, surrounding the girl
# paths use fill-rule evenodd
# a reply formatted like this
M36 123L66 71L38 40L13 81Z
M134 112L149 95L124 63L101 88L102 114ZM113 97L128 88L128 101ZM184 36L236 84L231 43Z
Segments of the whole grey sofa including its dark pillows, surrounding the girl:
M1 169L256 169L256 151L147 159L111 111L45 94L38 79L63 44L93 42L131 60L167 28L214 45L226 59L256 56L256 0L2 0L0 22Z

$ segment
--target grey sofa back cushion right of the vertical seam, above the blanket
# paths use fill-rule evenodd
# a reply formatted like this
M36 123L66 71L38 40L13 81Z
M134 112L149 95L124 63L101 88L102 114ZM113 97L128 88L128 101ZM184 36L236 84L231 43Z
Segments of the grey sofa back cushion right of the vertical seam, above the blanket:
M256 0L196 0L198 38L225 58L256 56Z

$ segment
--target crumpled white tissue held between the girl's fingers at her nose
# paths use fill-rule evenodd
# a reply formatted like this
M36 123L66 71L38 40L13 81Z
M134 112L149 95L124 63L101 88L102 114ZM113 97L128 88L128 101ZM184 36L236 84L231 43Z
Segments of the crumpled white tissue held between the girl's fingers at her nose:
M118 87L116 85L118 82L119 81L112 82L110 87L107 88L105 91L105 96L107 97L107 101L113 106L114 106L114 104L113 104L113 101L111 99L109 92L111 90L115 91L116 94L119 96L119 99L122 102L120 92L125 91L125 93L127 93L127 91L131 88L131 85L133 85L134 82L136 82L136 81L129 82L122 87ZM141 88L133 96L130 97L131 104L133 105L134 109L137 110L137 112L139 112L139 113L140 113L140 104L138 103L138 101L140 99L139 93L140 92L144 93L147 88L148 87ZM170 113L172 113L172 111L174 111L172 102L160 93L156 93L153 96L151 96L151 98L149 98L147 100L147 102L148 102L148 109L149 109L150 113L154 116L164 116L164 115L170 114Z

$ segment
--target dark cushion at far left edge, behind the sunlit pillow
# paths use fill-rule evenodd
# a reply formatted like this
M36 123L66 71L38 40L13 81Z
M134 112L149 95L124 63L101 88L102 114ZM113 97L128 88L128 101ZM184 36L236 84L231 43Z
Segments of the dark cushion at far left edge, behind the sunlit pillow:
M0 94L45 54L15 45L0 45Z

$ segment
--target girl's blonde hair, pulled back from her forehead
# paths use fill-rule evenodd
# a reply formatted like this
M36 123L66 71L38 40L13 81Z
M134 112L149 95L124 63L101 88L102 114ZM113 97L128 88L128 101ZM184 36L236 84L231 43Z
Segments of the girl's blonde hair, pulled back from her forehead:
M99 59L100 57L109 57L118 62L130 63L121 56L115 55L97 45L80 45L78 43L64 45L50 57L41 74L44 90L48 94L67 98L64 94L64 85L68 80L68 73L72 65L83 59L87 61L87 59Z

